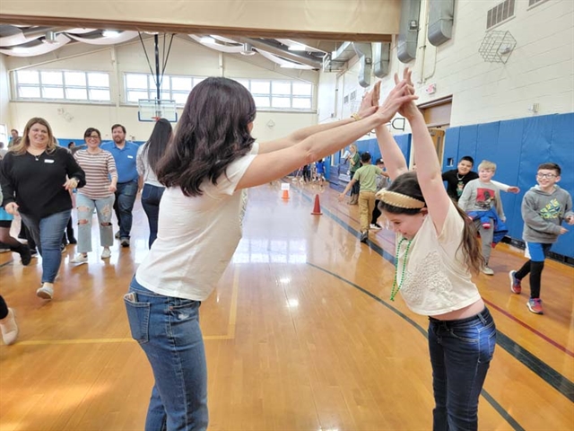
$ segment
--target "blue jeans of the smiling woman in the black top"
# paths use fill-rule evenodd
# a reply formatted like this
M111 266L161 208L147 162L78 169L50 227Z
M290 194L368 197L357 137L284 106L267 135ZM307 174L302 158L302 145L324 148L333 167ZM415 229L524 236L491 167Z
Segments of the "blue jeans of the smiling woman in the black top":
M42 283L54 283L62 262L62 234L71 213L71 209L66 209L43 218L20 213L42 257Z

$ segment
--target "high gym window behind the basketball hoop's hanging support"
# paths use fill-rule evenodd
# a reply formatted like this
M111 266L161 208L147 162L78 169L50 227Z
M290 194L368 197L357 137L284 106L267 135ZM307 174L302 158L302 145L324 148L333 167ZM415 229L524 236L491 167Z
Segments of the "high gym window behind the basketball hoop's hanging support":
M157 99L154 75L126 74L126 103L137 103L140 99ZM189 92L205 78L198 76L163 75L161 79L161 100L186 104Z

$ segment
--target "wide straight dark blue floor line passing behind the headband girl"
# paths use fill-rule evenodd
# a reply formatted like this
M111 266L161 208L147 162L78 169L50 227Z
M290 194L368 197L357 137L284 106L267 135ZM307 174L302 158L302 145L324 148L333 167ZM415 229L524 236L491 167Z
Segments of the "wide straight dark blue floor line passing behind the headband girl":
M300 193L301 197L309 200L309 202L313 200L302 190L296 190ZM346 224L343 220L335 216L335 214L330 212L328 209L323 207L322 211L326 214L326 216L329 216L331 219L333 219L335 223L339 224L349 233L352 233L353 236L356 236L357 238L361 237L361 233L354 230L349 224ZM384 259L387 259L391 264L395 265L395 256L391 255L387 251L384 251L378 244L371 242L370 240L367 241L367 244L373 251L376 251ZM520 346L516 341L510 339L509 336L498 329L496 343L504 350L506 350L509 355L514 356L518 362L525 365L526 368L540 376L544 382L550 384L556 391L559 391L564 397L570 400L570 402L574 402L574 383L572 383L567 377L554 370L552 366L546 364L542 359L530 353L528 350L526 350L525 347Z

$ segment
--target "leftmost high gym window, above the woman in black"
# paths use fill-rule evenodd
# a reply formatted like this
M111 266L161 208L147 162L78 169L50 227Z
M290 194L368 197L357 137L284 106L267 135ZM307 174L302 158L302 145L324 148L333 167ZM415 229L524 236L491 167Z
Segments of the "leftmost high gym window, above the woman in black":
M109 102L109 74L66 70L17 70L15 99Z

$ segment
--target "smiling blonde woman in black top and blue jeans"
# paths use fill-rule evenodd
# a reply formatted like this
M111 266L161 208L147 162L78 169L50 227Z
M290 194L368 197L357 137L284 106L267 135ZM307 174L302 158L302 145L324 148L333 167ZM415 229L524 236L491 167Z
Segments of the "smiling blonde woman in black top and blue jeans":
M57 146L48 121L33 118L20 144L4 157L0 177L4 209L20 213L42 256L42 286L36 295L52 299L62 233L72 211L68 190L83 187L85 174L72 154Z

